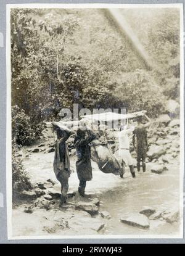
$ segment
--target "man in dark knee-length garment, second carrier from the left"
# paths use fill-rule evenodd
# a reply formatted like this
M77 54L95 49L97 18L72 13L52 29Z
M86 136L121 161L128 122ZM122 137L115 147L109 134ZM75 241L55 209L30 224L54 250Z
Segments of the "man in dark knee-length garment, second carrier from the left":
M92 180L91 147L89 143L93 141L93 139L96 139L96 134L86 126L76 131L74 141L77 156L76 172L78 180L80 181L78 192L81 196L84 196L86 181Z

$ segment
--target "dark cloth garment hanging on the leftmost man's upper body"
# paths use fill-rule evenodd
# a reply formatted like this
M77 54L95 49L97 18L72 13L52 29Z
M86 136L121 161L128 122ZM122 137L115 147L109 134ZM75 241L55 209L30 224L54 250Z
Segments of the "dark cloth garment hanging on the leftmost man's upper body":
M65 131L64 137L55 141L55 156L54 156L54 172L57 177L60 171L68 171L70 176L70 159L68 153L68 146L66 144L67 139L70 136L70 132Z

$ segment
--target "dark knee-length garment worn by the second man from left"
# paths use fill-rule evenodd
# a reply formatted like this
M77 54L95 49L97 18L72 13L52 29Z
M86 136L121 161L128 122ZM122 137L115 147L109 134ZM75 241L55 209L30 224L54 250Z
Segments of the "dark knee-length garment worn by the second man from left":
M87 138L76 136L74 145L76 148L76 172L80 181L92 180L91 147L89 143L96 139L96 134L88 131Z

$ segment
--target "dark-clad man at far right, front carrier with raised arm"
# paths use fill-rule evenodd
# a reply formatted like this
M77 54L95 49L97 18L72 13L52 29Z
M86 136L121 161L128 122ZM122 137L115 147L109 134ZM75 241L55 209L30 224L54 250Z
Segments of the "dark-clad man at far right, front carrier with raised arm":
M144 115L147 119L147 123L142 124L142 117L137 118L138 125L133 132L133 146L136 149L137 154L137 169L140 171L140 162L142 161L142 171L146 171L146 154L148 151L147 142L147 130L146 128L150 126L150 118ZM135 147L136 139L136 147Z

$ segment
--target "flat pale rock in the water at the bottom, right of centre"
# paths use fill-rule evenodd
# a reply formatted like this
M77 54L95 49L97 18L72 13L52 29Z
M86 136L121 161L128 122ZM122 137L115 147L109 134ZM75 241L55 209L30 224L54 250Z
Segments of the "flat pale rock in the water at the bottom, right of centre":
M137 226L138 228L148 229L150 227L148 218L140 213L121 218L120 221L130 226Z

